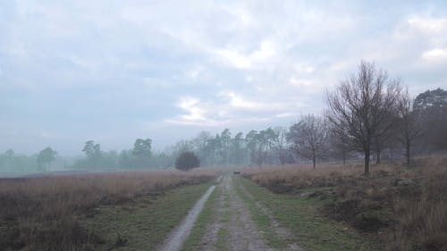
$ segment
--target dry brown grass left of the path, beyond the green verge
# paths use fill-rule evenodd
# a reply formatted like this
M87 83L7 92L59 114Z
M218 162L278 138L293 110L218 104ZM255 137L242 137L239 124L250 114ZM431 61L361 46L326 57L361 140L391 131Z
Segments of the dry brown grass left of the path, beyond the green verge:
M217 171L114 172L0 180L0 250L89 250L102 240L79 213L206 182Z

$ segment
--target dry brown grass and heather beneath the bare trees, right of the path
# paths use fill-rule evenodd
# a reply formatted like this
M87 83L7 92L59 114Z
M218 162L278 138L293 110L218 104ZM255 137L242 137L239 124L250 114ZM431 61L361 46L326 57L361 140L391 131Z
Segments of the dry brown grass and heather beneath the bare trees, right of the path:
M327 188L327 216L384 239L387 250L447 250L447 158L418 158L412 169L384 163L363 175L361 163L247 169L246 177L277 193ZM331 199L327 199L327 198Z

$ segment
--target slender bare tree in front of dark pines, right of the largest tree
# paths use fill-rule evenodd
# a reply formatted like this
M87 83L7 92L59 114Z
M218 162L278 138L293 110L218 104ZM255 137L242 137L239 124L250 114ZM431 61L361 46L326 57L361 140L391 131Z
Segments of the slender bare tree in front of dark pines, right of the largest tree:
M407 158L407 167L411 163L411 146L415 139L421 133L421 127L417 121L417 114L413 113L413 99L409 96L409 91L402 93L399 100L398 116L400 118L400 127L398 138L405 146L405 156Z

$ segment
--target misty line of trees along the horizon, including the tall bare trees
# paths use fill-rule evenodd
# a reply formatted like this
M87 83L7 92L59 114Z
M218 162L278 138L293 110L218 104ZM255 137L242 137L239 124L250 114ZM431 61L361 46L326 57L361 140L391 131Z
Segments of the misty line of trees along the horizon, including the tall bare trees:
M445 151L445 128L447 91L438 88L413 98L401 79L391 78L374 63L361 62L358 71L326 92L324 113L304 114L288 128L268 127L245 134L229 129L216 134L202 131L162 152L152 150L150 138L137 138L131 149L120 153L104 152L100 144L89 140L81 149L85 157L70 168L169 168L182 153L191 152L202 166L259 168L302 161L316 168L320 161L344 164L361 157L368 173L372 161L405 157L410 167L413 155ZM50 147L34 155L38 170L45 171L56 155ZM0 167L11 164L13 158L12 150L0 155Z

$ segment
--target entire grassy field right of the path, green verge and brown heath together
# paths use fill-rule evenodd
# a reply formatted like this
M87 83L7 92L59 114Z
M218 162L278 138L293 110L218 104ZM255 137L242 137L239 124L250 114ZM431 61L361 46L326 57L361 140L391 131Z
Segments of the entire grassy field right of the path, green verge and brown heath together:
M333 244L340 239L342 250L368 250L358 238L379 239L381 250L447 250L447 159L372 170L367 177L360 163L247 169L243 175L264 188L243 184L310 250L341 250Z

